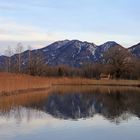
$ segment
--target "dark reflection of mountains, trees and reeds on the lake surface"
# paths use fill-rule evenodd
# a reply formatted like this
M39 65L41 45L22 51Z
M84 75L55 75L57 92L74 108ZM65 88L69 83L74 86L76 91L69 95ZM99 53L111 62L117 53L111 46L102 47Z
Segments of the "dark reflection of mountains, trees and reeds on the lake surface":
M25 109L30 110L30 113L27 113L30 119L33 116L32 110L36 110L59 119L77 120L98 114L108 120L120 122L132 116L140 118L140 89L61 86L54 87L48 93L37 92L0 98L0 116L9 118L14 112L19 112L16 117L22 118L21 114L25 113L20 112L23 112L21 107L24 112Z

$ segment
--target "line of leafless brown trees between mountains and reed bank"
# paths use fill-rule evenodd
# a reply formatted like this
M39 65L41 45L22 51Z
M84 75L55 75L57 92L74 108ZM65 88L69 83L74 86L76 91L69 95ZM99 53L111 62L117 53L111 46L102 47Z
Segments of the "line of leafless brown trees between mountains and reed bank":
M110 48L103 54L103 61L88 62L81 67L66 65L48 66L39 50L32 53L31 48L24 52L21 43L15 53L8 47L5 64L1 71L25 73L50 77L84 77L100 79L101 74L110 75L112 79L140 79L140 59L134 57L127 49ZM13 55L14 54L14 55Z

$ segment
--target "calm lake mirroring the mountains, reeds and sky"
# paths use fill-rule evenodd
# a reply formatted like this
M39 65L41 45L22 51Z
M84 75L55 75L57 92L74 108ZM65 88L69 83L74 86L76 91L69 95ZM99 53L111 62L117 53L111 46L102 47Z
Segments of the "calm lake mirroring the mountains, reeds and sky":
M140 140L140 89L54 86L0 97L0 140Z

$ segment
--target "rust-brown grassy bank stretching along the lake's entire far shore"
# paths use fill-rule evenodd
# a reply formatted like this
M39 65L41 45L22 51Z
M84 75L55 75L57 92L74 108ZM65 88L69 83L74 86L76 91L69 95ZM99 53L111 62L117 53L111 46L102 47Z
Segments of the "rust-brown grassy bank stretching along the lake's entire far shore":
M0 95L15 91L47 89L53 85L135 86L137 80L93 80L84 78L45 78L24 74L0 73Z

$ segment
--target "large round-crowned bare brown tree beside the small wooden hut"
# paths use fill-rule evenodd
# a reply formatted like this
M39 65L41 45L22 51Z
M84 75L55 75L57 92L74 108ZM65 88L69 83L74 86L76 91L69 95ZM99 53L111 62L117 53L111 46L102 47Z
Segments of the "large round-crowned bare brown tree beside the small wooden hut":
M115 78L125 78L129 76L133 69L133 59L130 52L121 46L110 48L104 54L105 63L110 65L110 74Z

